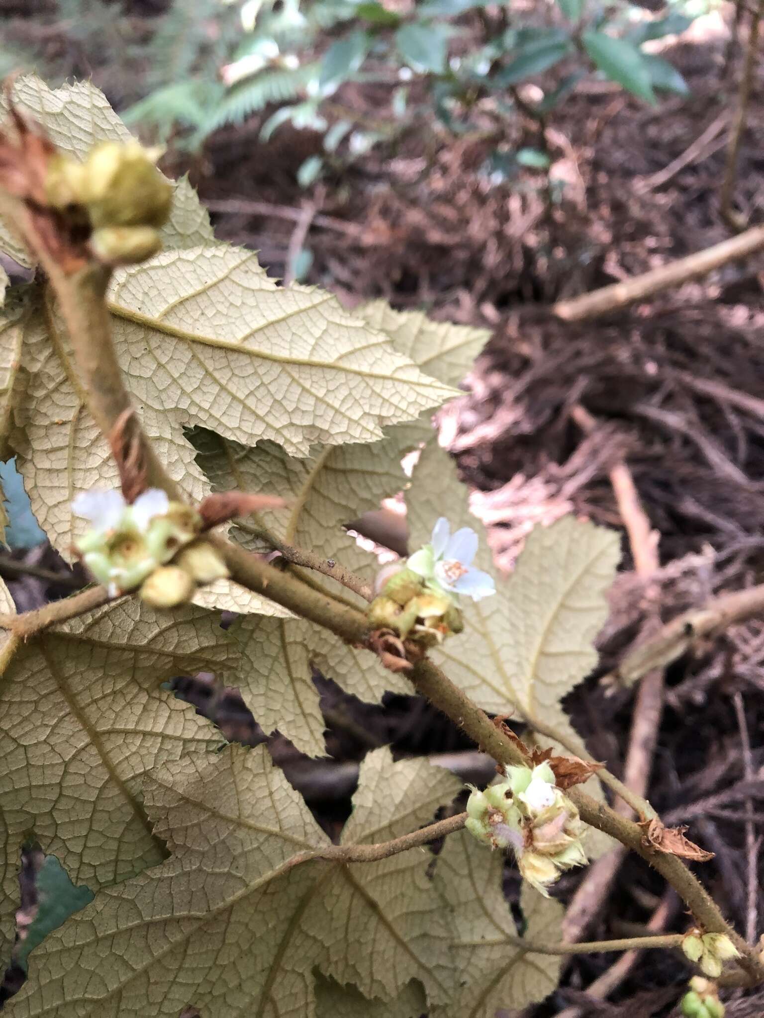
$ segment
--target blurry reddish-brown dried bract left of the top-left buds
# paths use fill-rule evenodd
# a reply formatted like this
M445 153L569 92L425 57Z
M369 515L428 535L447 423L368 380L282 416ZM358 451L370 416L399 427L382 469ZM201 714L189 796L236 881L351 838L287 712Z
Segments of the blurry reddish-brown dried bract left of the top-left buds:
M13 76L4 84L10 121L0 128L0 189L11 200L4 212L35 254L48 254L69 275L90 261L90 226L67 221L48 205L45 181L56 148L36 121L18 111L12 87Z

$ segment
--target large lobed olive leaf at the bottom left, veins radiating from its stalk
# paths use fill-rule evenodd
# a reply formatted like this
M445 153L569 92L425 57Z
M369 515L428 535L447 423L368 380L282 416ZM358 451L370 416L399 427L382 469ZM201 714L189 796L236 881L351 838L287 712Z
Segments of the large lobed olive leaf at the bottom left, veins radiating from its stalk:
M343 842L416 829L457 789L425 761L379 750L362 768ZM265 747L188 754L157 773L146 801L172 856L103 889L47 939L14 1016L176 1018L194 1003L215 1018L313 1018L316 965L382 1000L412 979L431 1001L449 998L431 856L303 861L328 839Z

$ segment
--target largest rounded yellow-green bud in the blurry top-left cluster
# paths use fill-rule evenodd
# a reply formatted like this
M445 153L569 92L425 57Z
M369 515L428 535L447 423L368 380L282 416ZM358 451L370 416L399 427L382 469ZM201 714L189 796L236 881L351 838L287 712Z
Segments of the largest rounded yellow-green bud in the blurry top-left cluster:
M101 142L84 166L84 204L102 226L162 226L170 214L172 187L156 168L157 150L139 142Z

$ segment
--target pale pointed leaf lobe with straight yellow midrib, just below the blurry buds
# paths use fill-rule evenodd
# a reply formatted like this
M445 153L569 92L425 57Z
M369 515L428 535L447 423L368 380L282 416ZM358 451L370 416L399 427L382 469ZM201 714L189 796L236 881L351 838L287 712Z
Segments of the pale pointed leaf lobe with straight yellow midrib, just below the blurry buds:
M451 395L331 294L279 288L241 248L164 251L120 270L108 301L137 401L176 427L305 455L381 438Z

